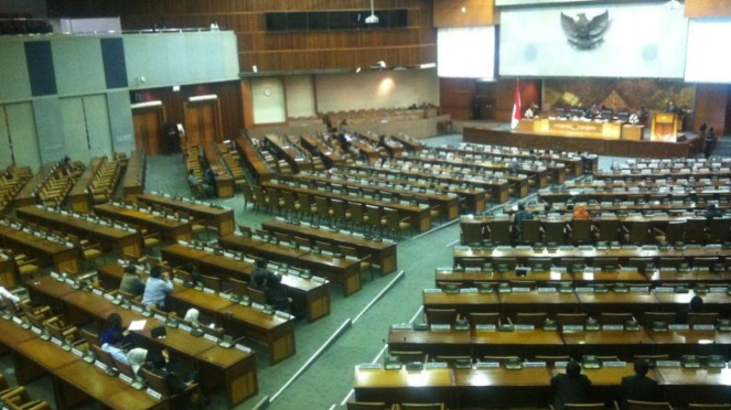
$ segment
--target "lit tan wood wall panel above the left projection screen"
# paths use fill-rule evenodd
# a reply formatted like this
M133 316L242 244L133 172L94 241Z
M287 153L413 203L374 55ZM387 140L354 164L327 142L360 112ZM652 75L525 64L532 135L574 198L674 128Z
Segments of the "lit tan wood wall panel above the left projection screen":
M499 13L494 0L433 0L436 28L495 25ZM462 12L462 8L465 9Z

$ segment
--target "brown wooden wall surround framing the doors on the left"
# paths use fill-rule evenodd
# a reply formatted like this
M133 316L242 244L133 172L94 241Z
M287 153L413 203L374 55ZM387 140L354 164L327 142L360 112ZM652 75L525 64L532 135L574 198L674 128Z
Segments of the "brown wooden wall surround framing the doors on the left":
M130 91L132 102L162 101L165 107L166 120L173 123L185 123L185 102L189 97L215 94L218 96L223 139L235 138L244 127L241 123L241 89L240 82L211 83L182 86L180 91L172 87Z

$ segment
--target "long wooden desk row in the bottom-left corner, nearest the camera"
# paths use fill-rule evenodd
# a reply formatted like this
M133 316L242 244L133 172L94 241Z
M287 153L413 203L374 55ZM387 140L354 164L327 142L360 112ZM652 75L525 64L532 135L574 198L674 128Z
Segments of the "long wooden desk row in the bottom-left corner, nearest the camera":
M120 378L110 377L78 355L65 352L51 341L43 341L31 330L12 321L0 321L0 344L14 355L19 385L44 375L53 378L55 408L71 410L89 399L110 409L169 409L166 399L155 399L143 390L136 390Z

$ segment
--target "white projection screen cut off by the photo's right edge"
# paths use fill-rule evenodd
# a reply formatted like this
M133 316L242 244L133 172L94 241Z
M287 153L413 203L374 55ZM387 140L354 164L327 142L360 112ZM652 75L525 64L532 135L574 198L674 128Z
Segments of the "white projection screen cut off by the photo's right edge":
M721 43L731 39L731 19L691 20L688 26L686 82L731 83L731 56Z

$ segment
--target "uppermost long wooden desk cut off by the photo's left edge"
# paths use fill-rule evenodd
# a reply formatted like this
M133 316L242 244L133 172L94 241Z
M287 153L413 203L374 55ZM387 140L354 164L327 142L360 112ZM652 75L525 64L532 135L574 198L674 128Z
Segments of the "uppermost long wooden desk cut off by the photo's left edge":
M54 266L56 270L78 273L78 249L65 244L26 234L10 226L0 225L2 246L39 259L41 268Z

